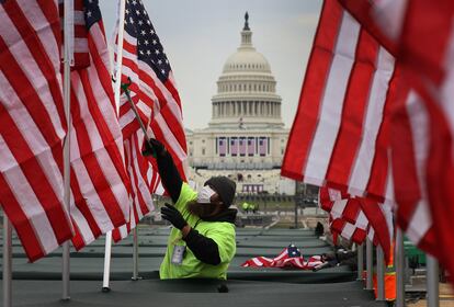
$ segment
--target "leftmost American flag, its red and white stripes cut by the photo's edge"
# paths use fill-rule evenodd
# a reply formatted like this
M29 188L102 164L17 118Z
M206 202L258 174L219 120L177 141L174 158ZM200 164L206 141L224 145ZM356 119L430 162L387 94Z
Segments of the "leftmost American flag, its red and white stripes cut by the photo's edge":
M64 208L66 136L56 1L0 5L0 205L30 261L72 237Z

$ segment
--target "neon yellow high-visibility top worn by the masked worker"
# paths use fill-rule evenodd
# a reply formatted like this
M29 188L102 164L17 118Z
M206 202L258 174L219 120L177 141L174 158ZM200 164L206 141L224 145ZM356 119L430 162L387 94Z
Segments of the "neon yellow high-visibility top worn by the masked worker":
M227 278L227 269L236 252L235 225L228 221L204 221L198 216L191 214L186 209L186 204L196 200L197 193L183 182L180 197L175 203L188 224L198 231L198 234L213 239L218 247L220 263L218 265L206 264L194 257L186 247L181 264L171 262L175 246L185 246L181 231L173 228L170 231L167 243L164 259L159 270L161 280L167 278Z

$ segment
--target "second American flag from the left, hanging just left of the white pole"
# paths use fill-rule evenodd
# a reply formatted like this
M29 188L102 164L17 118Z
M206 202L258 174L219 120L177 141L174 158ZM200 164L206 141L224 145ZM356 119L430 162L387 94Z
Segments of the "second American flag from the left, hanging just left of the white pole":
M90 65L71 71L72 242L80 249L129 220L130 182L97 0L83 2Z

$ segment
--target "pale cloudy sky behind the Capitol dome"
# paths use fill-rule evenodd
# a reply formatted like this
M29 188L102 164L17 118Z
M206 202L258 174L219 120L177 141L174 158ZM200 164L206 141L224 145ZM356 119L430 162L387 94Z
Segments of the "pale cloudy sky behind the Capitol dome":
M277 82L282 118L291 127L321 0L143 0L172 67L186 128L205 128L211 99L227 58L240 44L249 12L252 44L263 54ZM117 1L100 0L107 38Z

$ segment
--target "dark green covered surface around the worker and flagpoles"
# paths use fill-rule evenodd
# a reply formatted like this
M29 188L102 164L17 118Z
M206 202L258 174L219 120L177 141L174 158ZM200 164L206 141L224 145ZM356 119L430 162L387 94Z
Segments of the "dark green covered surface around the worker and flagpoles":
M277 255L290 243L313 255L331 248L302 229L238 229L237 255L228 281L160 281L159 264L168 228L139 230L139 274L133 282L132 239L113 247L111 292L102 293L104 240L71 253L70 302L60 302L61 251L27 263L14 240L13 306L385 306L373 299L349 268L319 272L250 269L240 264L256 255ZM228 293L219 293L223 285Z

